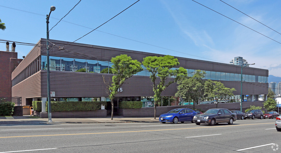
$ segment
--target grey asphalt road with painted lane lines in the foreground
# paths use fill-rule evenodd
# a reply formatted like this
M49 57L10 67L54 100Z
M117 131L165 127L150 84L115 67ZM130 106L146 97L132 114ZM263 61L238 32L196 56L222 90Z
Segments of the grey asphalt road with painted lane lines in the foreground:
M0 126L0 153L280 152L281 148L276 149L281 147L281 132L274 125L275 119L216 126L190 122L11 124Z

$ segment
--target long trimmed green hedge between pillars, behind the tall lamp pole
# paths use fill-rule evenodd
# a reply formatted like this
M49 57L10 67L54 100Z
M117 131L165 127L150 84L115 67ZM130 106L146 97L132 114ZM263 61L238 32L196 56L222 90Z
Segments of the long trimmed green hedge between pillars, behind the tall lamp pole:
M101 105L106 107L107 102L51 102L51 112L83 112L99 110ZM48 102L46 102L48 112Z

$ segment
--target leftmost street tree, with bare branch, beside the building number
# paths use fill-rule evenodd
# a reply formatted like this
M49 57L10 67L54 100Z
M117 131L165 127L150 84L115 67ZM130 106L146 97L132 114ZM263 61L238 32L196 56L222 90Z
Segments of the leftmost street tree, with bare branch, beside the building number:
M103 81L106 85L106 93L111 101L111 120L113 120L113 100L117 95L118 89L122 86L125 80L131 78L134 74L142 71L141 63L137 60L132 60L130 56L125 54L116 56L111 59L112 79L107 81L103 75Z

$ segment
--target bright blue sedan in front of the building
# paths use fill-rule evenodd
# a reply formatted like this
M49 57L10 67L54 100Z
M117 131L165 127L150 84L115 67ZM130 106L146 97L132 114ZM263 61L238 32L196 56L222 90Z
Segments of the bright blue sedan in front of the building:
M192 122L193 116L197 115L197 112L187 108L177 108L173 109L166 114L162 114L159 116L159 121L162 123L172 122L174 124L178 122Z

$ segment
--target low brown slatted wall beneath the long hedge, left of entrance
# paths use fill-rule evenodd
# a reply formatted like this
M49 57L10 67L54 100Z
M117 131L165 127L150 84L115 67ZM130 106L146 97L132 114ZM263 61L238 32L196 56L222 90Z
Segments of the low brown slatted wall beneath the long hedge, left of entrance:
M48 118L48 112L34 111L34 115L41 118ZM105 118L106 110L85 111L85 112L52 112L52 118Z

